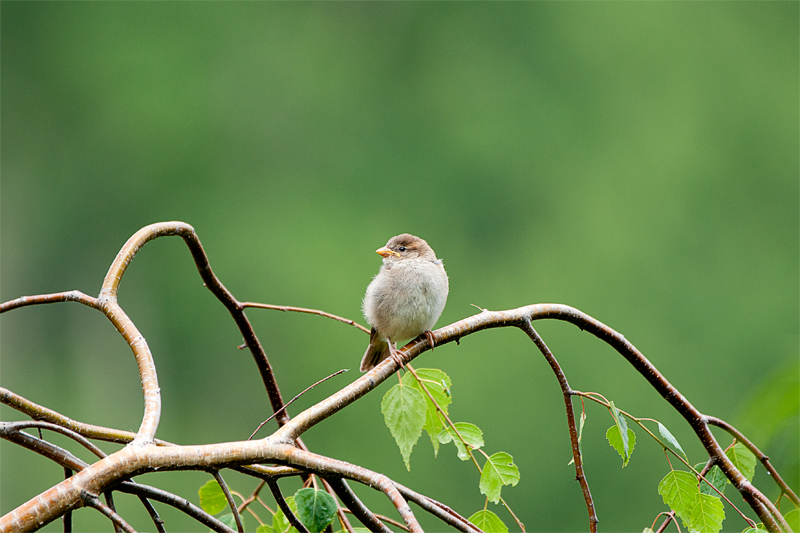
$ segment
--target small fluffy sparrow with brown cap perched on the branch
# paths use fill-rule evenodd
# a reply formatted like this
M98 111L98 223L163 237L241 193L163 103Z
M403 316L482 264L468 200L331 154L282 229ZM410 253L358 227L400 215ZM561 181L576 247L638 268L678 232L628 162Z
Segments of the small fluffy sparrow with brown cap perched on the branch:
M425 334L433 348L431 328L447 303L447 273L428 243L408 233L375 250L383 265L364 295L362 309L372 330L361 360L366 372L390 355L396 343Z

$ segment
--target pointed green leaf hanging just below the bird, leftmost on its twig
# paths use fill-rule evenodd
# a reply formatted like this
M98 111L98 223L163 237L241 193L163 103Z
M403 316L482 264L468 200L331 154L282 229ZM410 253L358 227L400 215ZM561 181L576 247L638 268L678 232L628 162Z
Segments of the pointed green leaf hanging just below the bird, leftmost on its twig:
M411 449L419 440L425 424L425 398L414 387L400 383L389 389L383 397L381 412L410 471Z

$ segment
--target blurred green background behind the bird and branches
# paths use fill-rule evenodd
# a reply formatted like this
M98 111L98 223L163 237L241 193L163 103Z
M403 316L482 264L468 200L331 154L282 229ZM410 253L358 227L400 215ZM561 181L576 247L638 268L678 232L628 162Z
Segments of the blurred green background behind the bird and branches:
M363 323L374 250L407 231L445 260L451 293L439 325L474 314L470 304L577 307L626 335L701 411L750 432L797 490L798 3L2 2L0 11L3 301L96 295L136 230L182 220L240 300ZM266 418L255 366L179 239L139 252L120 303L156 358L160 438L243 439ZM357 377L367 337L356 329L248 315L285 398L352 370L291 413ZM99 313L39 306L0 324L2 386L77 420L138 428L133 358ZM687 424L620 356L573 326L536 326L573 388L657 418L702 460ZM487 452L514 456L522 480L503 494L529 531L587 529L560 392L523 334L481 332L416 366L447 372L454 420L479 425ZM434 459L423 436L406 472L380 413L388 388L306 443L466 516L483 508L477 473L452 446ZM666 510L656 485L669 466L638 432L622 470L605 442L611 418L587 412L600 528L641 531ZM0 460L3 513L63 475L5 442ZM142 481L197 502L208 479ZM777 496L763 469L755 482ZM135 499L117 504L134 527L153 529ZM203 529L158 508L169 531ZM726 531L745 527L726 513ZM81 511L75 528L109 525Z

